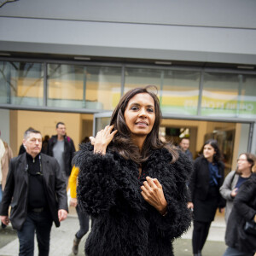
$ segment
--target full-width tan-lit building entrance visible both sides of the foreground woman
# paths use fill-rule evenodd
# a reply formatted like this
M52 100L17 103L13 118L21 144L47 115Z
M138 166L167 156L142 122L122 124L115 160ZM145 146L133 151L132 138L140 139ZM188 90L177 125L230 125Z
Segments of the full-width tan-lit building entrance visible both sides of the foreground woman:
M62 121L66 124L67 135L73 138L76 149L84 137L95 136L96 132L109 124L111 112L105 113L60 113L25 110L6 110L9 115L9 143L17 155L23 132L28 127L33 127L45 135L55 134L55 125ZM198 156L203 143L208 138L218 140L219 147L224 156L226 166L225 175L230 170L236 169L237 156L250 151L251 141L250 123L219 122L209 120L184 120L163 118L161 132L164 132L166 140L178 144L180 137L187 136L190 139L189 150L194 159ZM8 129L8 127L6 127Z

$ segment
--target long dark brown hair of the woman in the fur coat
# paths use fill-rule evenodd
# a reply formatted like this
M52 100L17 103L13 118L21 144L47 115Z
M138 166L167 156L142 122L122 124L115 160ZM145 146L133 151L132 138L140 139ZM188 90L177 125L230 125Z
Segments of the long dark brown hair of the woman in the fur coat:
M113 125L113 130L118 130L118 133L113 137L112 143L110 143L109 148L117 151L126 160L131 159L135 161L138 165L142 164L145 160L148 160L150 155L150 150L167 148L172 154L172 162L175 162L178 158L177 150L171 145L164 143L159 137L159 128L161 121L161 110L158 97L154 93L154 89L157 91L156 87L153 85L148 85L144 88L136 88L129 90L119 101L117 107L113 110L113 114L110 120L110 125ZM155 120L152 131L148 134L143 143L142 152L139 148L131 141L131 131L125 123L125 108L131 98L139 93L148 93L154 99L154 113Z

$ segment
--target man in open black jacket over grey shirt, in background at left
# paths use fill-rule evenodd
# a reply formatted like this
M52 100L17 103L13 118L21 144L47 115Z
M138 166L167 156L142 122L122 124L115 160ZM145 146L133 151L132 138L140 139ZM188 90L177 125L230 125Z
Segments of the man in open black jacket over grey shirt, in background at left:
M73 167L71 161L76 149L73 144L73 139L66 135L66 126L64 123L57 123L56 132L57 135L54 135L49 139L47 154L53 156L58 161L61 166L61 172L66 178L67 187L68 178Z

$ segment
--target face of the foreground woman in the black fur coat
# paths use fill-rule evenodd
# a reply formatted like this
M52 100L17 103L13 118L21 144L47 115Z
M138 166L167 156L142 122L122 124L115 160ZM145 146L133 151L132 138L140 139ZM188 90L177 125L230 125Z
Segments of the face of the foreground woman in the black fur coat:
M155 120L154 99L148 93L133 96L125 108L125 123L131 137L144 137L152 131Z

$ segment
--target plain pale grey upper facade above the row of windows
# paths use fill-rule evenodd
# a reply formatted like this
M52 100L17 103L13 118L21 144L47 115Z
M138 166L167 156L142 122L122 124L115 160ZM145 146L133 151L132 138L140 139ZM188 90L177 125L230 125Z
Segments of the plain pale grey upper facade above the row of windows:
M0 51L256 64L256 1L22 0Z

